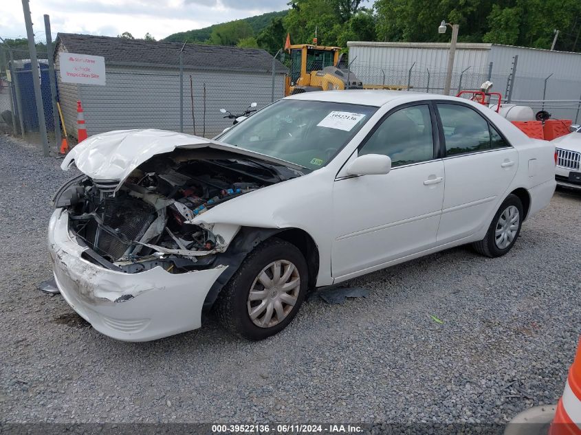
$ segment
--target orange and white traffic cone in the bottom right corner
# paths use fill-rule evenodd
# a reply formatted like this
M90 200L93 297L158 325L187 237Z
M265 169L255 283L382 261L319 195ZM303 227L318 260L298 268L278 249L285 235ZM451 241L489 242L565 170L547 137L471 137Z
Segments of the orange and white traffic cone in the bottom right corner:
M575 361L569 369L563 396L557 405L549 435L581 434L581 340Z

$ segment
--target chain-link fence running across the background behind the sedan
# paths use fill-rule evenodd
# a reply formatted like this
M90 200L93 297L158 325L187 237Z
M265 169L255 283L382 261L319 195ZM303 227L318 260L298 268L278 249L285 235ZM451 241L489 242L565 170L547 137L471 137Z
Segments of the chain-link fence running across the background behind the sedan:
M329 56L331 54L329 53ZM276 59L298 78L299 59L279 51ZM32 71L27 47L0 44L0 130L13 135L38 135L40 122L51 134L60 122L55 117L50 87L49 59L45 45L37 45L39 70ZM232 125L232 115L241 115L252 102L257 109L283 97L284 74L280 71L208 71L191 65L135 63L107 65L107 85L76 85L58 78L58 56L55 80L56 100L61 102L64 126L76 137L76 102L83 102L89 135L116 129L164 129L213 137ZM273 58L274 60L274 58ZM274 65L274 62L273 62ZM311 60L309 69L332 65L331 58ZM372 65L356 58L342 60L358 81L370 87L381 86L428 93L443 93L447 71L419 63L410 66ZM450 94L463 89L479 89L487 80L493 91L503 94L503 102L531 107L535 112L549 111L553 118L581 122L581 81L520 74L516 63L507 70L497 70L490 63L453 71ZM36 113L33 74L39 74L44 119ZM296 77L295 77L296 76ZM221 113L226 109L227 113ZM226 118L225 118L226 117ZM56 122L56 125L55 125ZM53 133L54 134L54 133ZM50 139L51 143L55 136ZM56 142L56 141L55 141ZM56 144L58 147L58 144ZM54 148L52 148L54 149Z

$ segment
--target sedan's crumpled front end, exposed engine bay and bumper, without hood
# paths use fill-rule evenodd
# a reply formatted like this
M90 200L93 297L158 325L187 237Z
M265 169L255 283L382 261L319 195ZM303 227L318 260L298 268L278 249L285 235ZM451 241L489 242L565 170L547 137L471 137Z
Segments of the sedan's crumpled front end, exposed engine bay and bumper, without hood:
M117 339L198 328L208 293L215 299L247 251L226 252L239 225L201 215L298 175L229 151L175 149L122 180L76 177L53 198L49 245L58 288Z

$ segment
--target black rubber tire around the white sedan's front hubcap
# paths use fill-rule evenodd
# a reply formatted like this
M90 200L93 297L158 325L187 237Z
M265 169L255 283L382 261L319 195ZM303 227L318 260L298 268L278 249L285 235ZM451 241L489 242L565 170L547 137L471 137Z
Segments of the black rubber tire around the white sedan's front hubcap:
M300 287L296 303L278 324L270 327L256 326L248 313L250 287L261 271L276 260L290 262L298 271ZM248 254L234 276L221 290L215 304L215 311L221 324L234 335L253 341L265 339L282 331L292 322L305 299L308 274L307 262L296 246L276 237L263 241Z

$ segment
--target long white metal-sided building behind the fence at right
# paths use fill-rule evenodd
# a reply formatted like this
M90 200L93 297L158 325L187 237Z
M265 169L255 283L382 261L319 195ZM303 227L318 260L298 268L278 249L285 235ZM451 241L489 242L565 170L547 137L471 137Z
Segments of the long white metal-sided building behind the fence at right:
M409 83L417 91L441 92L443 89L449 43L350 41L347 45L351 69L363 82L392 85ZM512 89L513 102L523 100L523 104L540 109L540 103L529 103L527 100L543 99L545 79L550 76L547 79L545 100L569 100L555 103L553 116L574 119L578 106L571 100L581 100L581 53L459 43L454 58L452 92L478 87L488 79L491 72L493 90L505 96L516 55L518 62ZM489 71L491 63L492 71ZM462 71L465 71L463 81L460 79Z

